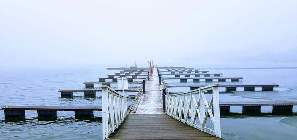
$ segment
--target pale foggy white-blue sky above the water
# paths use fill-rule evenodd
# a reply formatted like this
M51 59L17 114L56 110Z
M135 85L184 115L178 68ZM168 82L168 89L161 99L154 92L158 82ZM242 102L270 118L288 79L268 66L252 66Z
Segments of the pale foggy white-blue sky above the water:
M0 0L0 67L297 61L297 0Z

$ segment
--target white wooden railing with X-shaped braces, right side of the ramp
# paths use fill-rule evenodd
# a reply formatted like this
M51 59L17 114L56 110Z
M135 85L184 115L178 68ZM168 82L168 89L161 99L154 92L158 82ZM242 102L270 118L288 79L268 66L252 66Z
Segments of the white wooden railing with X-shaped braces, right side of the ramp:
M215 84L185 93L166 95L166 114L201 131L221 138L219 86L220 84ZM211 90L212 97L208 102L204 92ZM199 95L198 101L195 99L195 94ZM211 119L214 129L206 127L208 117ZM200 123L197 123L197 118Z

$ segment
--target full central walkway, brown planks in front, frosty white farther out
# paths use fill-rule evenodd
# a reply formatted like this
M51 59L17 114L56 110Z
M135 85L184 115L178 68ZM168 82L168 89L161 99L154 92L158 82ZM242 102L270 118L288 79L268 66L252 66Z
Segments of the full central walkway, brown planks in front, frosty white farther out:
M158 79L154 70L146 82L146 93L138 96L134 109L109 135L110 140L221 140L165 114Z

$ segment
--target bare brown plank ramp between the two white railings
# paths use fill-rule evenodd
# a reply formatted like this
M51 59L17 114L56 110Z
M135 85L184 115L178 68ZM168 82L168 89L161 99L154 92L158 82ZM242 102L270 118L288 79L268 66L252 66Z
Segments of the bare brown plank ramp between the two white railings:
M166 114L128 115L109 140L222 140Z

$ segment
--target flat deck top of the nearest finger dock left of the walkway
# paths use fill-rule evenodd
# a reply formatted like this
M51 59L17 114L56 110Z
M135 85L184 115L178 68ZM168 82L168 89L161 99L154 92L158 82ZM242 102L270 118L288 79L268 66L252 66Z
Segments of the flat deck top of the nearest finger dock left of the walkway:
M101 106L8 106L2 110L102 111Z

